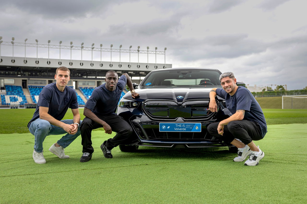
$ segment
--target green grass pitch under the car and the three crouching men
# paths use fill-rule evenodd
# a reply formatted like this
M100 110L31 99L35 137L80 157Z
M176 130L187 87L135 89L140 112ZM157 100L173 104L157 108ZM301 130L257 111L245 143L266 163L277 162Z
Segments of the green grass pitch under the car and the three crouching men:
M265 138L255 142L265 152L255 167L233 162L235 154L227 147L140 147L137 153L116 147L114 158L106 159L100 145L112 135L101 130L93 132L91 161L79 162L81 137L65 149L70 159L56 157L48 149L60 135L50 135L44 142L47 163L35 164L34 136L24 128L34 110L0 112L0 203L305 203L307 199L307 124L290 124L307 123L306 110L264 109L270 125ZM65 117L71 117L70 111Z

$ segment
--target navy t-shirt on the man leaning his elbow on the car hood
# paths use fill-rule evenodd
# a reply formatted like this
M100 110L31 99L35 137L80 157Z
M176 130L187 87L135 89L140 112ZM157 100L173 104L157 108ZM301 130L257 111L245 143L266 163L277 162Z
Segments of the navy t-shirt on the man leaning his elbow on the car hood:
M91 97L87 100L85 108L90 109L95 115L116 114L116 108L122 90L126 87L127 78L125 75L119 77L116 88L109 91L105 84L96 87Z

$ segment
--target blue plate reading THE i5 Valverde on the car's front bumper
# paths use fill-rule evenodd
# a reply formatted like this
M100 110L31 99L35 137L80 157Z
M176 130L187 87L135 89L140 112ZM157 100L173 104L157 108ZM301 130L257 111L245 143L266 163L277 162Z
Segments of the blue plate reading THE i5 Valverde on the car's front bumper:
M160 132L201 132L201 123L159 123Z

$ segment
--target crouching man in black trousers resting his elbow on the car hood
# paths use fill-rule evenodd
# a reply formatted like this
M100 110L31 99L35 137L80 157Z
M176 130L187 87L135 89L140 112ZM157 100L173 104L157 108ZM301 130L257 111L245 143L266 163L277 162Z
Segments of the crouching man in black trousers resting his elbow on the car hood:
M111 149L130 141L133 133L129 123L115 113L122 90L125 89L126 84L131 90L133 98L139 95L134 91L129 75L124 73L118 78L117 73L110 70L106 73L105 82L105 84L93 90L84 107L83 115L85 118L80 126L83 145L80 162L91 160L94 152L91 141L92 130L103 127L107 134L111 134L112 130L117 132L114 138L104 141L100 146L106 158L113 158Z

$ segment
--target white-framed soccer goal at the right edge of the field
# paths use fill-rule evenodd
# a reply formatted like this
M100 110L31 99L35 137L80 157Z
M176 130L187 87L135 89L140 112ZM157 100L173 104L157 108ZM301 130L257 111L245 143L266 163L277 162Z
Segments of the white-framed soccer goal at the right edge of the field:
M307 109L307 95L282 96L282 109Z

